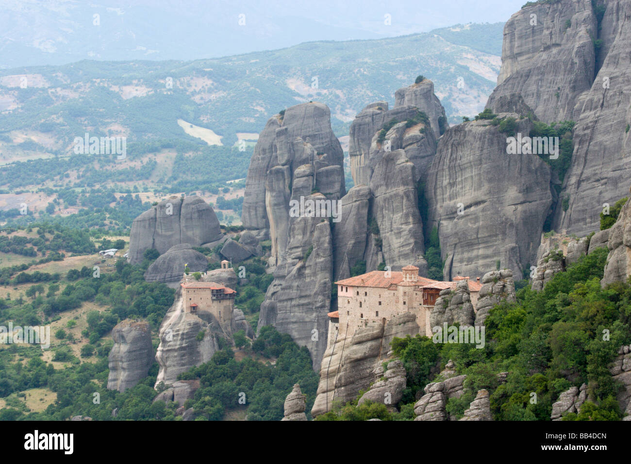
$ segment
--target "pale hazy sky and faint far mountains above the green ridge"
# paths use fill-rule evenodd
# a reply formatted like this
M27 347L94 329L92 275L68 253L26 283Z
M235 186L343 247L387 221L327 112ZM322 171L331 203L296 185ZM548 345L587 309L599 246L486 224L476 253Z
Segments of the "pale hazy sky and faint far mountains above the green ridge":
M0 0L0 68L195 59L505 22L526 0ZM98 16L98 25L95 24Z

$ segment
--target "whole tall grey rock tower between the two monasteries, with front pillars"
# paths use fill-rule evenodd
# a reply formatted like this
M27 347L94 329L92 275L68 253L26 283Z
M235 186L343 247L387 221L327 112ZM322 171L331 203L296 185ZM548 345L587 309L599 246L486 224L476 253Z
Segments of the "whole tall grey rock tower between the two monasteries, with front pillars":
M331 311L329 221L337 222L336 202L346 194L343 161L328 107L296 105L269 119L245 182L244 226L256 235L269 230L272 242L274 281L261 306L259 328L273 324L309 348L314 369L324 353ZM298 212L293 201L305 209ZM315 202L312 215L306 209L310 201Z

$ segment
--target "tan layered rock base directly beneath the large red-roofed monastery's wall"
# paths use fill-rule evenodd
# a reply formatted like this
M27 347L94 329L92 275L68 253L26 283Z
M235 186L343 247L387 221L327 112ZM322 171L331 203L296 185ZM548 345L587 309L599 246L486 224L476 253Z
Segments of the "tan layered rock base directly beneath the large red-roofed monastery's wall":
M390 350L395 336L414 336L419 327L416 316L405 312L382 324L359 328L352 338L339 335L324 352L320 383L311 414L315 417L331 410L333 402L346 403L367 390L375 378L375 368ZM393 403L394 404L394 403Z

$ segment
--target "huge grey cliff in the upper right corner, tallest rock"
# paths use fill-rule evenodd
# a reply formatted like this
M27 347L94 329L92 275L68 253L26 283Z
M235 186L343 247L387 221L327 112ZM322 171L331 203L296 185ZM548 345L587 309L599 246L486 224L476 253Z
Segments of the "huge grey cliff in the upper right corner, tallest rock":
M522 8L504 27L502 68L487 107L533 111L548 123L576 121L555 230L598 230L603 204L625 196L631 177L630 15L630 0L560 0Z

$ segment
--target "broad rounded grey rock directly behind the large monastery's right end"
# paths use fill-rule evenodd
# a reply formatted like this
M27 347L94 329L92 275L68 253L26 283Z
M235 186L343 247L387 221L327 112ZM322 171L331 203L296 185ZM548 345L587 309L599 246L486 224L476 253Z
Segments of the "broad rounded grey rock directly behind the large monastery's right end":
M498 117L519 117L500 114ZM531 122L517 121L528 134ZM536 155L506 153L507 135L490 121L459 124L440 138L428 172L428 229L437 227L444 279L500 266L516 275L534 263L552 204L550 167Z

